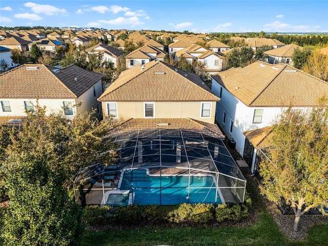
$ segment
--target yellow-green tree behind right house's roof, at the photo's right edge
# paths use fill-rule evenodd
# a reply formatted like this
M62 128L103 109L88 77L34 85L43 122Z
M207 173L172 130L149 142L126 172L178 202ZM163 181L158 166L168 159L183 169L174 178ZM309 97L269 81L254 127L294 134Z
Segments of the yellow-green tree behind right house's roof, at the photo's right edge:
M328 55L315 50L306 60L302 70L328 82Z

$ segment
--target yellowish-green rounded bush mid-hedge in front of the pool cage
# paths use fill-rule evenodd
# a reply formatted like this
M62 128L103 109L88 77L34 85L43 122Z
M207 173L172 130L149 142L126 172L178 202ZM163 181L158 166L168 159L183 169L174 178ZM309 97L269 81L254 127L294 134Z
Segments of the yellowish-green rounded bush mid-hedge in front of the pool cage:
M213 219L213 211L213 204L182 203L177 209L169 212L168 221L184 224L205 224Z

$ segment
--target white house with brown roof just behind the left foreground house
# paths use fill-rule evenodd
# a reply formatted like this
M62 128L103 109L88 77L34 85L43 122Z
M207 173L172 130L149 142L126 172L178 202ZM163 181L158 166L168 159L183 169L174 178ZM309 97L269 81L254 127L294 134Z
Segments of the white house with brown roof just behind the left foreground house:
M103 61L106 60L109 63L113 63L115 68L117 68L119 65L119 59L121 57L124 57L123 51L105 44L97 44L89 49L86 49L86 52L88 52L89 54L92 53L103 54Z

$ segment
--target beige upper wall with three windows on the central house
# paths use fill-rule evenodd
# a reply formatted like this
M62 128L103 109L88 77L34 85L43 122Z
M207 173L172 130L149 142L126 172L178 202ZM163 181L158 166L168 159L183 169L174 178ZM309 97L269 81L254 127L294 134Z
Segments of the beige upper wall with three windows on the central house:
M103 114L108 115L107 102L103 101L101 103L103 104ZM145 109L143 101L118 101L113 103L117 103L117 118L115 118L116 120L145 118ZM216 102L213 101L210 117L201 117L200 101L155 101L154 118L192 118L214 124L215 107Z

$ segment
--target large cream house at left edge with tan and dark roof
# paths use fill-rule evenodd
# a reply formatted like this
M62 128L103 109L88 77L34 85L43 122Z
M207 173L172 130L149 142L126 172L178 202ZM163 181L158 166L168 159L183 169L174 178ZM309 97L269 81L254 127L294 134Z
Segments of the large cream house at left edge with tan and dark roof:
M34 111L38 101L47 107L47 114L63 112L72 119L95 109L101 118L97 98L103 93L102 77L75 65L63 69L43 64L19 66L0 74L0 116L26 116L25 110Z

